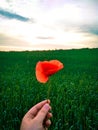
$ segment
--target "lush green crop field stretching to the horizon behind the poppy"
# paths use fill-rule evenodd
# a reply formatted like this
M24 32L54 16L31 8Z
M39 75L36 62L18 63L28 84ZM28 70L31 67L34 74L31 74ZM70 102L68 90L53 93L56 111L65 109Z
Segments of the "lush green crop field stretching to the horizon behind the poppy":
M58 59L64 69L41 84L38 61ZM0 130L19 130L24 114L47 99L49 130L98 129L98 49L0 52Z

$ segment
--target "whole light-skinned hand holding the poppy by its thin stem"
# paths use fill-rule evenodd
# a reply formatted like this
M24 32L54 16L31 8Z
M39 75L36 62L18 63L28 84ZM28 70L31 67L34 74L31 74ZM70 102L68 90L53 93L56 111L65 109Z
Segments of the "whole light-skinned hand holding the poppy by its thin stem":
M50 110L50 100L36 104L23 117L20 130L47 130L51 125Z

